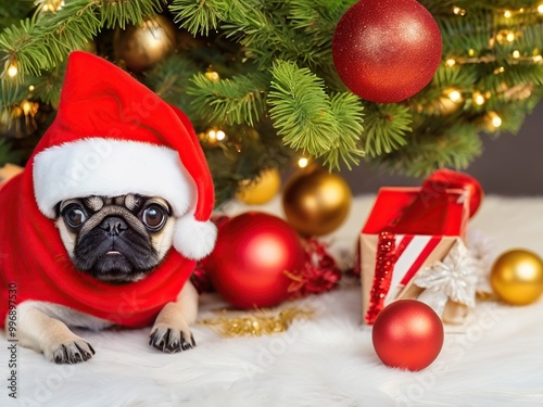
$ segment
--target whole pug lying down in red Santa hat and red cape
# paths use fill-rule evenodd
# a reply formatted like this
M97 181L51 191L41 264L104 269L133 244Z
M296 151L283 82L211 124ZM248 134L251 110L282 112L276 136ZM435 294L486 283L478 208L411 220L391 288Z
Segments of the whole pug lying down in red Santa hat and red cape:
M190 275L217 230L213 179L185 113L118 66L72 52L54 120L9 177L0 183L8 339L59 364L94 355L74 327L151 327L161 352L195 346Z

